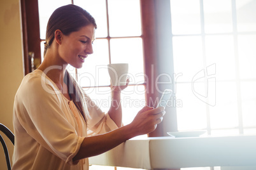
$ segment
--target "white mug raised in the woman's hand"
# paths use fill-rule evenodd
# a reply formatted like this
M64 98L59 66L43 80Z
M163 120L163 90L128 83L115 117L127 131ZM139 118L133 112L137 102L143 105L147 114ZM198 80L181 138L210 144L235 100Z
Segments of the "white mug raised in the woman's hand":
M111 63L108 65L112 86L125 86L128 69L128 63Z

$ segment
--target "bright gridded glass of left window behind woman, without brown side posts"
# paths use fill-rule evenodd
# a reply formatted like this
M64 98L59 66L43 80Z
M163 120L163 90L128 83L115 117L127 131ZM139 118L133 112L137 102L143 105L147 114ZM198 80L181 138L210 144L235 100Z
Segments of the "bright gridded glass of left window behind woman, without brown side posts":
M144 77L140 76L144 74L140 1L66 0L54 4L52 1L38 1L42 56L48 18L56 8L70 3L89 11L96 19L98 28L93 45L94 53L86 59L82 69L69 67L68 70L87 95L104 112L108 112L111 90L106 66L108 63L129 63L130 86L122 92L122 106L125 107L123 122L129 124L143 107L143 102L139 102L144 101L145 104L145 82ZM48 4L52 4L50 8Z

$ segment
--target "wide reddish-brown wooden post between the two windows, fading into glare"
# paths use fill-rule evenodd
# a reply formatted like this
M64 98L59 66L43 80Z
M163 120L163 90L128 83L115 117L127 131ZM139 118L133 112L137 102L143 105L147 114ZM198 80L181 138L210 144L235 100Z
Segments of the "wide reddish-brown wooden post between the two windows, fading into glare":
M159 89L173 89L173 84L157 84L157 77L164 73L173 76L173 50L171 48L171 13L169 0L141 0L141 22L145 62L146 103L156 107L160 98ZM167 131L176 131L176 108L166 108L163 122L148 136L167 136Z

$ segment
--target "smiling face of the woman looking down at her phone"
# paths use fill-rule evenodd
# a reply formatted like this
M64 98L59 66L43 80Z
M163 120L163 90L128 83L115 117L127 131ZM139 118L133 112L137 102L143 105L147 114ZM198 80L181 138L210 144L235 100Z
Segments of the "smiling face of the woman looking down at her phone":
M59 55L62 60L80 69L85 58L93 53L92 42L95 39L94 25L87 25L68 36L62 35Z

